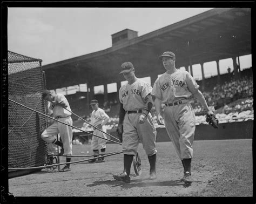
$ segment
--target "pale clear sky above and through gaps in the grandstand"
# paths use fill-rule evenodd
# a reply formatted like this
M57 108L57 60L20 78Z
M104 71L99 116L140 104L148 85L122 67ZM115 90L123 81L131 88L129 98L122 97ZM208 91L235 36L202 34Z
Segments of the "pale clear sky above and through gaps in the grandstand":
M42 65L105 50L111 35L124 29L138 36L212 8L8 8L8 50L42 59ZM251 55L240 57L241 69L252 66ZM231 59L220 60L220 73ZM217 74L215 62L204 64L206 77ZM211 67L211 69L207 69ZM201 78L200 65L193 65Z

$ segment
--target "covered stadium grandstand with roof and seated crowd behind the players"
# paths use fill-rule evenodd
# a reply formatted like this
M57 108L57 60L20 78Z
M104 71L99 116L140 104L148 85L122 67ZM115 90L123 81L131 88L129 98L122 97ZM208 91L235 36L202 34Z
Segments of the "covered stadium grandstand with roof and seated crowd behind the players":
M176 67L192 76L192 65L201 65L197 83L220 123L253 120L253 68L241 69L239 60L252 50L251 9L246 8L215 8L142 36L130 29L114 33L108 49L44 65L46 88L65 94L72 111L87 121L92 111L89 102L97 99L110 115L111 130L118 123L118 90L125 83L119 76L120 65L132 62L136 76L153 85L164 70L158 56L167 50L176 53ZM219 62L228 58L233 71L221 74ZM207 62L216 63L216 76L204 74ZM205 112L196 99L192 106L197 124L204 124ZM156 119L154 108L151 113ZM83 120L72 118L74 126L83 126ZM90 130L89 125L84 128Z

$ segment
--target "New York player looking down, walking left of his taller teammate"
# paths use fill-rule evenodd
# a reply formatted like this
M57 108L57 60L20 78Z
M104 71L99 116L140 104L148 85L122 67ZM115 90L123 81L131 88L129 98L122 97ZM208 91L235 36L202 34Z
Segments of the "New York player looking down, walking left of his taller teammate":
M128 81L119 90L119 125L123 127L124 172L113 175L114 179L130 183L133 157L137 154L139 141L150 163L150 179L156 179L156 128L150 110L153 106L152 87L134 74L131 62L121 65L124 78Z

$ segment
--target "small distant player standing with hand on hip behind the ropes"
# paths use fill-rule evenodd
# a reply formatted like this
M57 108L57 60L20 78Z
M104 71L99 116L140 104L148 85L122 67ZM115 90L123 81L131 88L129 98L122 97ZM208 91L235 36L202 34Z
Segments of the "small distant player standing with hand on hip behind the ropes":
M99 108L98 100L91 100L90 105L92 106L92 109L93 109L91 114L91 125L97 127L103 132L106 132L106 127L104 125L107 123L107 121L109 121L109 115L107 115L102 108ZM103 132L94 128L93 134L98 135L99 137L102 137L102 138L107 138L106 134L104 134ZM92 135L92 140L91 140L92 151L93 151L93 154L99 154L99 149L100 149L100 152L103 153L102 155L104 155L106 151L107 140L104 140L99 137ZM97 156L95 155L95 157ZM92 159L89 162L93 163L93 162L104 162L104 161L105 161L104 157L102 157L102 158L98 158L97 160Z

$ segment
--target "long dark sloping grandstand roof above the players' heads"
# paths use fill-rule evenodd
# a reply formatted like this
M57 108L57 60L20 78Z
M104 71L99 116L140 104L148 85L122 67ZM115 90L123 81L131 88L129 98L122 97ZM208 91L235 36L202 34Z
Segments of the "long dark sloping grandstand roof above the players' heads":
M122 44L43 66L48 89L124 80L120 65L133 63L137 77L161 74L158 56L176 53L176 66L251 54L251 9L216 8ZM59 78L56 78L56 73Z

